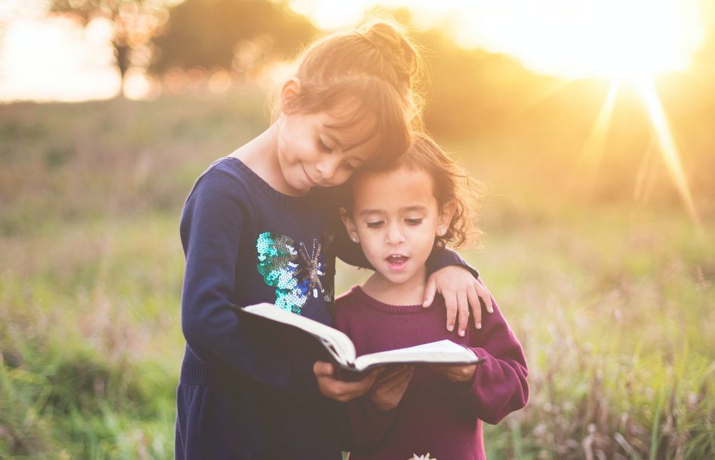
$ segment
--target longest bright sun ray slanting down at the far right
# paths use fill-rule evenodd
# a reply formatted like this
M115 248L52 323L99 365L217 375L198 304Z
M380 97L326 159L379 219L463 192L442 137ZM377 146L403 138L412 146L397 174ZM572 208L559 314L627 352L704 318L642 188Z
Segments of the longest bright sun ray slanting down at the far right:
M673 134L666 117L663 104L658 97L656 85L652 77L634 77L633 84L636 87L638 96L641 97L648 117L654 129L654 135L658 141L659 150L663 156L666 167L675 183L681 199L686 207L686 211L693 220L696 227L700 227L700 219L695 209L693 197L688 186L688 180L683 170L678 148L676 147Z

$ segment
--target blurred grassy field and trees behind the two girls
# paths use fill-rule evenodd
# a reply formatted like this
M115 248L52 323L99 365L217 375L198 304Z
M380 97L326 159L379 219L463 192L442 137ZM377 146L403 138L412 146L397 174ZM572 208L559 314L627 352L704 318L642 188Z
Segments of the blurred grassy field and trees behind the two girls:
M267 127L272 69L321 31L281 1L51 11L110 19L122 75L144 69L163 92L0 105L0 458L170 459L182 204ZM531 368L529 406L486 428L490 459L715 456L712 30L687 74L657 80L696 223L633 87L583 169L611 82L534 74L413 28L428 128L490 186L484 248L464 255ZM337 291L365 276L340 265Z

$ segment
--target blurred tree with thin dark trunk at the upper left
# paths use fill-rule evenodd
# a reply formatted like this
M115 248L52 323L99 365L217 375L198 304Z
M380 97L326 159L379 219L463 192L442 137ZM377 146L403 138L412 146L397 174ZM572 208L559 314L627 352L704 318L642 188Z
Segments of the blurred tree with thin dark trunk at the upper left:
M152 36L167 21L167 6L181 0L51 0L50 11L71 14L87 26L94 19L109 19L114 26L114 45L119 73L129 67L147 67Z

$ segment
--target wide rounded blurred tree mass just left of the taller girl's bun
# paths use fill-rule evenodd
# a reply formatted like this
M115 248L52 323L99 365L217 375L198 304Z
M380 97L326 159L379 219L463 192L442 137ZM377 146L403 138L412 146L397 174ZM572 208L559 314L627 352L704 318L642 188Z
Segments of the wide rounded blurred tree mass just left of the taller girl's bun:
M271 58L285 59L316 33L285 1L186 0L154 37L150 69L222 67L240 76Z

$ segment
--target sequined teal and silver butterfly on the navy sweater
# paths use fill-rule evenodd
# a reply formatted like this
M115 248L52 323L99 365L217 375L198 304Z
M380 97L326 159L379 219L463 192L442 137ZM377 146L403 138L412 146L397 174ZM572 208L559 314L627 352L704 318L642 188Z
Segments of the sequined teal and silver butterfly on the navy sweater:
M275 288L275 305L293 313L300 312L308 298L322 296L332 303L335 294L332 273L326 280L329 268L324 262L332 233L325 232L320 241L310 245L278 233L264 232L258 235L256 251L258 273L265 283ZM330 258L328 258L330 260Z

